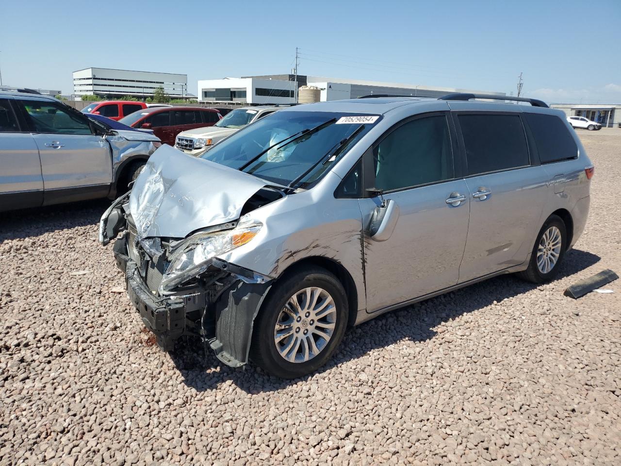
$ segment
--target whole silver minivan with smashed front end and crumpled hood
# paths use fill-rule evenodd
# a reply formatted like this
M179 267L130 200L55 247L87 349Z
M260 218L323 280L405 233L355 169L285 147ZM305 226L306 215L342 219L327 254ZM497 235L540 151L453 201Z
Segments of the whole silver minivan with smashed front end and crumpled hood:
M99 239L123 232L116 262L160 347L196 335L230 366L301 377L347 326L504 273L553 279L593 165L561 111L472 98L498 97L306 104L200 158L156 150Z

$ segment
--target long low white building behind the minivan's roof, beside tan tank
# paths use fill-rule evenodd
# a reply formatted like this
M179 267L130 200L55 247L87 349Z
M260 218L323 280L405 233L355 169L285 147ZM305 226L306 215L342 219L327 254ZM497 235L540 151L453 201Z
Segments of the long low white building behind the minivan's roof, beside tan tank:
M199 102L240 102L248 104L295 103L294 75L245 76L221 80L198 81ZM320 89L320 101L356 99L362 96L389 94L414 97L441 97L451 93L492 94L505 93L481 89L445 88L438 86L385 83L381 81L297 76L297 85Z

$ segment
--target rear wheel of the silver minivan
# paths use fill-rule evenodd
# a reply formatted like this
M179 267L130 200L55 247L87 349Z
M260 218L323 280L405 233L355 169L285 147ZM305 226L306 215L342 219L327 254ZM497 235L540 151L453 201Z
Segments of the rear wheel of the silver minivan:
M567 231L563 219L551 215L537 235L528 268L519 275L533 283L552 280L567 249Z

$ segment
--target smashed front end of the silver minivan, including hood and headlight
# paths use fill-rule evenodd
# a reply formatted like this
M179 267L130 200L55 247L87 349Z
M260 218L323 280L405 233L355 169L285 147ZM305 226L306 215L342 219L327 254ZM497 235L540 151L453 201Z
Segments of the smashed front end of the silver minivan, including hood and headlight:
M174 151L165 148L154 153L132 191L104 213L99 240L106 245L117 237L114 256L125 272L127 294L161 349L172 350L182 336L197 336L222 362L238 367L248 360L253 322L273 280L218 256L260 234L261 223L240 214L251 191L261 191L264 184L250 180L248 186L239 172L218 173L216 167L201 181L215 186L237 183L237 197L220 198L215 201L219 206L199 203L193 200L189 181L184 181L187 173L196 173L179 167L183 159L166 163L178 167L179 173L161 169L168 149ZM183 198L179 191L185 193ZM269 196L263 198L269 201Z

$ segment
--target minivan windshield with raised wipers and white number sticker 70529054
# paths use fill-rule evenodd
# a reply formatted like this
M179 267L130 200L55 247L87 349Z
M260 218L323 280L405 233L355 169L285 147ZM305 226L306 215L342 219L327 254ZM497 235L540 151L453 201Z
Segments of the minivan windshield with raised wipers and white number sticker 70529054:
M274 112L201 157L279 185L304 187L329 170L378 119L337 112Z

